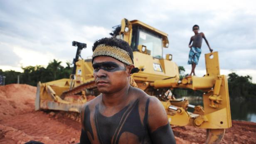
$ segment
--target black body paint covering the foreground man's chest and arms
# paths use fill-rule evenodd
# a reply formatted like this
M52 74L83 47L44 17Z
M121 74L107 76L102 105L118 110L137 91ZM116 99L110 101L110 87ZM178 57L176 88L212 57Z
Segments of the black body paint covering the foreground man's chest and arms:
M170 124L159 127L153 132L148 129L148 106L149 99L145 104L145 116L143 122L140 120L139 100L130 103L123 110L111 117L106 117L99 112L98 105L95 107L94 122L96 133L100 144L119 144L122 134L129 132L135 137L127 136L125 141L138 139L134 144L176 144ZM90 110L87 106L84 111L84 127L81 130L80 144L91 144L97 136L93 134L90 120ZM91 137L91 139L89 138ZM124 139L123 139L124 140Z

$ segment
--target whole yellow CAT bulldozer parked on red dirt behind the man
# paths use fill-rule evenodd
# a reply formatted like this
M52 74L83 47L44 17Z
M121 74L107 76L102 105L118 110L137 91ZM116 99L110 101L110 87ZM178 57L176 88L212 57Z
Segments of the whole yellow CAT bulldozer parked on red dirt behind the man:
M231 127L228 84L220 75L218 52L205 54L207 73L203 77L188 76L180 79L172 54L163 57L168 48L167 34L138 20L121 20L111 35L127 41L133 49L134 65L140 71L133 74L138 88L161 100L172 125L194 126L207 129L207 144L218 144L225 129ZM35 109L80 112L81 106L99 95L94 83L91 59L79 59L86 44L73 41L77 46L74 69L70 78L37 84ZM170 92L175 88L189 88L203 92L203 107L190 105L187 99L175 99ZM194 112L188 112L192 107Z

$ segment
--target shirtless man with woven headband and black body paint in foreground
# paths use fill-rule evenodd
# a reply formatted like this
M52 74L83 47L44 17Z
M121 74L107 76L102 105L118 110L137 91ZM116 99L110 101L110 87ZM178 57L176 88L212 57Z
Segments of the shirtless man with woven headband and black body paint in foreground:
M133 51L126 41L94 43L92 64L100 95L81 110L80 144L175 144L160 101L135 88Z

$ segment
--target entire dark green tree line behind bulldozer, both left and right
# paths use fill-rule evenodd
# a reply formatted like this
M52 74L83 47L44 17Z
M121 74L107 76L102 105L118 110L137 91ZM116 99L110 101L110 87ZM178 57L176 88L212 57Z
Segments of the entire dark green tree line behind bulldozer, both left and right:
M61 66L61 61L53 60L48 63L48 66L27 66L22 67L23 73L16 71L2 71L0 69L0 75L5 76L5 84L17 83L17 77L20 77L20 83L36 86L39 81L42 83L58 80L61 78L69 78L73 67L71 63L66 62L66 67ZM180 78L184 78L188 74L185 74L185 68L179 66ZM228 75L229 95L230 97L246 97L256 98L256 84L251 82L251 76L239 76L236 73L230 73ZM180 95L202 95L200 91L177 89L176 93Z

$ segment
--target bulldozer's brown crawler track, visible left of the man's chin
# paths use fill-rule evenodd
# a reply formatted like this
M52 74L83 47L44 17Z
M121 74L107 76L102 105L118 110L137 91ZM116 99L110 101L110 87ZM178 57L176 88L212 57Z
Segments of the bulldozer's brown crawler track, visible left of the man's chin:
M82 90L91 89L91 88L96 88L94 81L89 81L87 83L83 83L77 87L74 87L70 90L66 90L62 93L60 97L65 98L66 96L75 95L76 93L80 93Z

